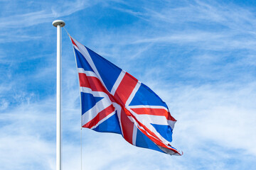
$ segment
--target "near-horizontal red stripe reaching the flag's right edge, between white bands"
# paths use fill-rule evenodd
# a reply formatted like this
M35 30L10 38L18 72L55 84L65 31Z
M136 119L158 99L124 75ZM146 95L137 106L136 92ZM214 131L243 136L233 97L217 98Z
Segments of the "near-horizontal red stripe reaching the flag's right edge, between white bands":
M176 121L171 114L164 108L131 108L132 111L138 115L160 115L165 116L166 119Z

